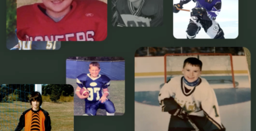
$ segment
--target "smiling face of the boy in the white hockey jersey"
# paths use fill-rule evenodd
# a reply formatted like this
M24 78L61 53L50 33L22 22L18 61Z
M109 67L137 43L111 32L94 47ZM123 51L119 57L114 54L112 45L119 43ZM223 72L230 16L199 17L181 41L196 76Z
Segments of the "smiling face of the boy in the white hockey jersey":
M200 67L187 63L182 69L183 76L188 82L194 82L201 75Z

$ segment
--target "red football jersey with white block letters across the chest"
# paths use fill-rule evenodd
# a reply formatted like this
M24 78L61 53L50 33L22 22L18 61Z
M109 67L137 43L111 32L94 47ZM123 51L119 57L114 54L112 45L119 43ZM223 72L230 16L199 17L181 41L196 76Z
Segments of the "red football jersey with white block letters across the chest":
M107 37L107 4L87 0L71 3L59 22L46 15L43 3L17 9L17 36L22 41L102 41Z

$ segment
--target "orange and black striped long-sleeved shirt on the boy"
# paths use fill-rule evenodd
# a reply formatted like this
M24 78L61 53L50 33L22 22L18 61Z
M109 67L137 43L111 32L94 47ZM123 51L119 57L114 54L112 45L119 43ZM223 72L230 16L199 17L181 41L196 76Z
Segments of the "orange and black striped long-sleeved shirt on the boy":
M20 131L25 127L25 131L49 131L51 130L51 119L49 113L39 108L34 111L32 108L22 113L20 122L15 131Z

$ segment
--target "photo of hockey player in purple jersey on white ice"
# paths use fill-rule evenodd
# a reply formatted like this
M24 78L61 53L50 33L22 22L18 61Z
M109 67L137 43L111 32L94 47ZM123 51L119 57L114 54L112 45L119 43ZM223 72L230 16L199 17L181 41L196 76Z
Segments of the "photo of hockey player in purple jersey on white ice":
M238 37L238 0L174 0L173 4L175 38Z

